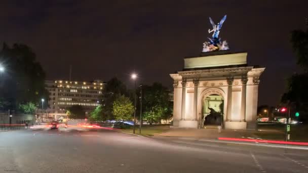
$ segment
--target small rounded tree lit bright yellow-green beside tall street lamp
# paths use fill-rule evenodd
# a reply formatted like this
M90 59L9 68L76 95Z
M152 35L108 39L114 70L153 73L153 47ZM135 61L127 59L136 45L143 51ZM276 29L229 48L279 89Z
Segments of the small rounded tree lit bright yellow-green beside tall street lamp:
M115 120L129 120L132 118L134 108L130 99L122 95L113 102L112 114Z

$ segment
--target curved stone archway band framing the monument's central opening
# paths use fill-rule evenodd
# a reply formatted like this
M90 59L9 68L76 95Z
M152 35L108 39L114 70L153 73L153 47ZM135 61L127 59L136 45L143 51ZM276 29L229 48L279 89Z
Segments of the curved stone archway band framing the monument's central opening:
M201 112L202 112L202 101L203 101L203 99L210 96L210 95L213 95L213 94L221 96L224 101L226 100L226 95L225 95L224 91L220 88L212 87L212 88L208 88L208 89L204 90L202 93L200 93L199 99L198 99L198 114L197 114L198 116L200 116ZM223 107L224 107L223 116L224 116L224 119L225 119L226 102L224 102Z

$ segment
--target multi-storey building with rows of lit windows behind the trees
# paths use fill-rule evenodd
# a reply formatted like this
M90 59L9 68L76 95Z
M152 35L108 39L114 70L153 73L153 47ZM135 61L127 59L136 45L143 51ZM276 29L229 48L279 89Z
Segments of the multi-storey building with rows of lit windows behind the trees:
M73 105L83 106L89 113L102 102L102 90L105 83L94 81L47 80L46 89L49 92L47 109L38 109L37 114L43 118L66 119L66 112ZM43 103L44 104L44 103Z

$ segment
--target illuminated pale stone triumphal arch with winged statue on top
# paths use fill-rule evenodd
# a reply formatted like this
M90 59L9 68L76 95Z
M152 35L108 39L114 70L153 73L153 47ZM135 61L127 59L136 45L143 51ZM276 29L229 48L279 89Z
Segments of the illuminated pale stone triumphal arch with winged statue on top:
M226 129L256 127L258 85L265 68L249 66L247 52L231 52L218 37L218 24L198 57L185 57L184 68L170 74L174 83L173 125L198 128L211 111L220 112ZM216 101L217 104L211 104ZM211 107L212 106L212 107ZM215 107L213 107L215 106Z

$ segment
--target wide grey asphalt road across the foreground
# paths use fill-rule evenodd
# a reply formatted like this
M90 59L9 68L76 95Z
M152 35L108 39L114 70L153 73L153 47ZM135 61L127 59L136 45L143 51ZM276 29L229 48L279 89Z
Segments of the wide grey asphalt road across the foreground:
M0 132L0 172L308 172L308 150L108 130Z

